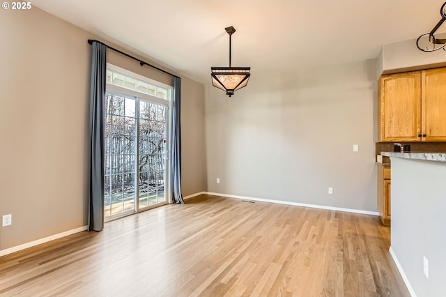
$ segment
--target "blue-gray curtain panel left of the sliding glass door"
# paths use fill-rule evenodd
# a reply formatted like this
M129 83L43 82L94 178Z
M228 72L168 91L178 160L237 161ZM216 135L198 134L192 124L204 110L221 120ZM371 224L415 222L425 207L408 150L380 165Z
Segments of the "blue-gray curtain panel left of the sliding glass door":
M90 91L89 231L104 229L104 125L107 46L93 42Z

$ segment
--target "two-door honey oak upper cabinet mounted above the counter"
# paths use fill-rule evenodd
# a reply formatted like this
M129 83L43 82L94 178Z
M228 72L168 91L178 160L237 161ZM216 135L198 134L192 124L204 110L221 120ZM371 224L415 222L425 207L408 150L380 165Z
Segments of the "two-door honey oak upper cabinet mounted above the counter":
M446 68L383 75L378 141L446 141Z

